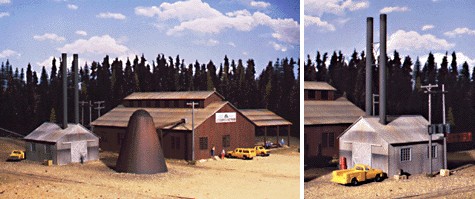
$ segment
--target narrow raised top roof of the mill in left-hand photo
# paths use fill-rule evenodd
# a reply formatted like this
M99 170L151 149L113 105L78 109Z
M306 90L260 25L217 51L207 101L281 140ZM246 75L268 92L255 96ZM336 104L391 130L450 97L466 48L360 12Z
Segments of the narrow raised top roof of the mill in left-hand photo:
M204 100L216 93L215 91L183 91L183 92L135 92L125 97L124 100L176 100L176 99L190 99L190 100Z

